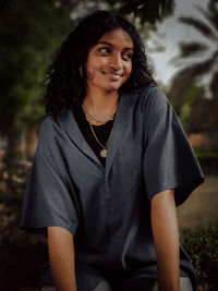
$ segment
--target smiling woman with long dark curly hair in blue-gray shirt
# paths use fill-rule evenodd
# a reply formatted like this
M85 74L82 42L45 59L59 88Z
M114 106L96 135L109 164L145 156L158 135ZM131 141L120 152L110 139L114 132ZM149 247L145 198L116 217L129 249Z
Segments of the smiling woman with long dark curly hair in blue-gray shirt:
M204 174L136 28L96 11L48 73L21 223L48 238L41 290L196 290L175 206Z

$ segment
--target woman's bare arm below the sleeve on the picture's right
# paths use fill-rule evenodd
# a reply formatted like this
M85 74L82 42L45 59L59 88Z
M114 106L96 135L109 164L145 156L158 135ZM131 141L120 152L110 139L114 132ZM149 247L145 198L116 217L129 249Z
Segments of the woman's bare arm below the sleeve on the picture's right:
M174 190L152 199L152 228L157 254L159 291L180 291L180 243Z

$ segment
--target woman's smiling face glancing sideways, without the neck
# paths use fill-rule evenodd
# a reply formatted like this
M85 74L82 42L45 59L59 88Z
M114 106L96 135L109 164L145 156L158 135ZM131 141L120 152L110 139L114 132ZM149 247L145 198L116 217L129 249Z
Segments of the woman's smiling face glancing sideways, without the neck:
M122 28L104 34L88 52L86 88L119 89L130 76L133 49L131 36Z

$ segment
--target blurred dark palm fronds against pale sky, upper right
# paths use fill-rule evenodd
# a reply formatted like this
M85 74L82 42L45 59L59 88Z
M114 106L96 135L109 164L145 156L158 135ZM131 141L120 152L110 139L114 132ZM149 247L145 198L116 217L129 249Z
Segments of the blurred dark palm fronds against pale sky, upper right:
M197 4L195 8L203 17L181 16L179 21L194 27L205 41L180 43L180 56L175 60L184 61L197 56L201 56L201 60L180 70L173 80L173 87L182 92L192 87L195 81L209 76L207 89L214 99L218 99L218 0L209 0L207 10ZM213 52L209 51L211 47L215 48Z

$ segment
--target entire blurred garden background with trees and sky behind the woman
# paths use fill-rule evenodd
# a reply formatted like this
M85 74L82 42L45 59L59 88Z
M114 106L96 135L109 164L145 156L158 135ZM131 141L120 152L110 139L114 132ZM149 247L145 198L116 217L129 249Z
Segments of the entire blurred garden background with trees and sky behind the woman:
M205 182L177 208L179 228L198 290L218 290L218 0L0 1L0 290L38 290L46 240L21 231L20 220L46 69L78 20L98 9L137 27L199 160Z

